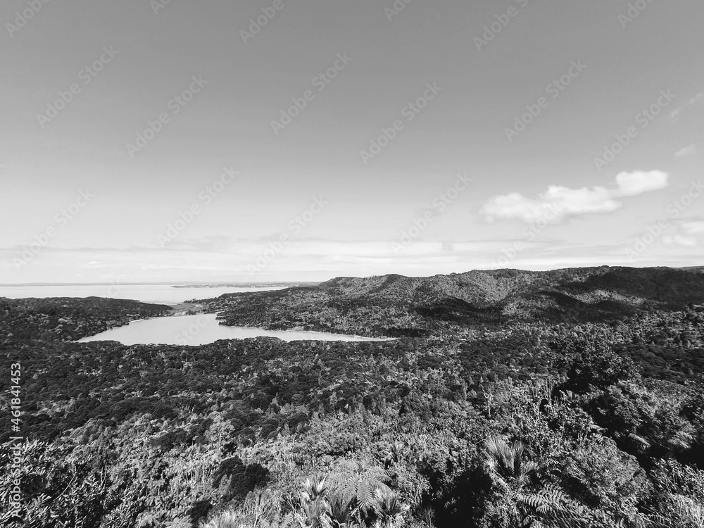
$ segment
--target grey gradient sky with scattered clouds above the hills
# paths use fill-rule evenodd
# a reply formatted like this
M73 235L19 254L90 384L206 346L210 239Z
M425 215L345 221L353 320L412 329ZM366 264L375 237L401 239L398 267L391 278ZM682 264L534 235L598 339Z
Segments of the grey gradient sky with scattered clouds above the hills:
M0 283L703 265L700 0L6 0Z

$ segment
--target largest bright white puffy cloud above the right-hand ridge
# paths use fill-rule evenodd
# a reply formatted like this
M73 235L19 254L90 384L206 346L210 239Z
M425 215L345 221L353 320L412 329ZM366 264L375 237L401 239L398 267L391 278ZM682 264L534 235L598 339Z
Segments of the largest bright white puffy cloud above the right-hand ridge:
M518 193L503 194L487 201L481 212L488 222L513 218L520 218L524 222L539 219L559 222L570 216L587 213L611 213L621 208L620 198L664 189L667 187L667 177L667 173L659 170L621 172L616 176L616 189L569 189L553 185L536 199Z

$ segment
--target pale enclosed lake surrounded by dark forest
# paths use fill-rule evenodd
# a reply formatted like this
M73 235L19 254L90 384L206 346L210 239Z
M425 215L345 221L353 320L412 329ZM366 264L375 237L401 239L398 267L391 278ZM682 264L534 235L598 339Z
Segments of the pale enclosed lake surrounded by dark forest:
M77 341L119 341L123 345L166 344L204 345L218 339L247 339L249 337L277 337L284 341L389 341L372 337L346 336L325 332L303 332L300 330L263 330L252 327L226 327L219 324L214 313L181 315L177 317L153 318L132 321L124 327L113 328Z

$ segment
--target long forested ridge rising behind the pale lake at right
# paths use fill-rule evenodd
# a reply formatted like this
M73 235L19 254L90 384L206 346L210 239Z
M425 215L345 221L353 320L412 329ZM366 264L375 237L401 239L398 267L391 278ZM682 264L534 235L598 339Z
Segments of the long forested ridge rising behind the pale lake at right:
M201 301L227 325L422 336L506 322L589 322L704 303L701 268L473 270L339 277L313 287Z

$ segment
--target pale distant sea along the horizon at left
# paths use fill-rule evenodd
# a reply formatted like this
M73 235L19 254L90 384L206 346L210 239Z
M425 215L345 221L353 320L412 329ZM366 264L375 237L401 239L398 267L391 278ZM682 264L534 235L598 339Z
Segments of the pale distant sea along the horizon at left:
M193 287L173 288L171 284L39 284L0 286L0 297L110 297L143 303L178 304L194 298L213 298L243 291L266 291L284 287Z

